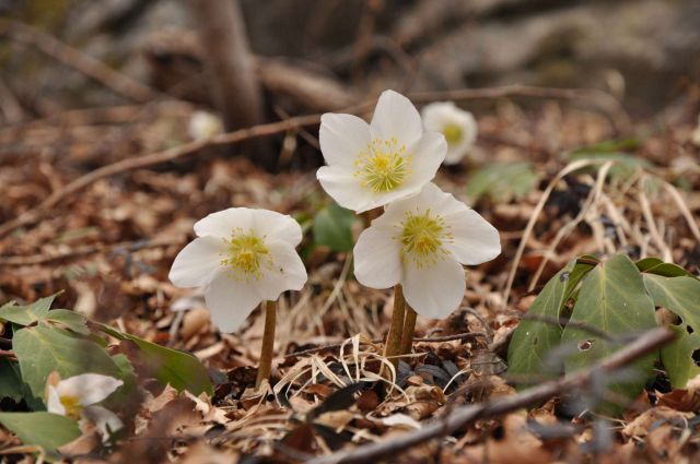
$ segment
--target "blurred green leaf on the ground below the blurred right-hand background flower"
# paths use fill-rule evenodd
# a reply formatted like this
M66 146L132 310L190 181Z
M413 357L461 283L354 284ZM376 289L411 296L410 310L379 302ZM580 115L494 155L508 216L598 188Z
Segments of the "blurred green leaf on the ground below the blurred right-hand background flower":
M530 192L539 175L529 163L492 164L467 179L467 195L475 201L489 197L494 202L521 200Z

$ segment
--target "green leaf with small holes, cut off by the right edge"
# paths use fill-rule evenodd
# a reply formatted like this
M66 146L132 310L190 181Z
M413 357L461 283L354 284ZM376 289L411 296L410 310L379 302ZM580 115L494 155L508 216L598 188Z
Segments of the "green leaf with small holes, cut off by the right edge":
M700 281L695 277L665 277L644 274L644 284L654 305L673 311L681 319L677 338L661 350L661 360L670 383L677 389L700 374L693 354L700 349Z

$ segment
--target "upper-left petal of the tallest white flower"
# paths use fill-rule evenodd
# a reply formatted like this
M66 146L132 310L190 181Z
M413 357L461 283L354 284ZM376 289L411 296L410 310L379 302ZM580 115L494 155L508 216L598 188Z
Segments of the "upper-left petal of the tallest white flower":
M354 160L371 143L370 124L352 115L326 112L318 131L320 151L330 166L352 169Z

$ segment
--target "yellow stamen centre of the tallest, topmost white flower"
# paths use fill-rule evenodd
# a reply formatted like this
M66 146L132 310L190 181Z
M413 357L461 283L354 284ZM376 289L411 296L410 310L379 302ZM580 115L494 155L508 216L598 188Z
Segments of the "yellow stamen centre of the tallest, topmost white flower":
M406 145L392 139L374 139L359 153L353 176L375 193L400 187L410 174L411 156Z

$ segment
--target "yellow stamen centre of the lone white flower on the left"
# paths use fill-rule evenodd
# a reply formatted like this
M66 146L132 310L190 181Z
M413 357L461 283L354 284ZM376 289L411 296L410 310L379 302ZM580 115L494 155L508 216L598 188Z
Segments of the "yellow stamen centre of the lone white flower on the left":
M225 240L228 253L221 260L221 265L228 267L236 279L248 281L250 276L260 278L262 269L272 264L270 251L265 246L262 238L253 231L244 234L243 230L234 230L229 240Z

